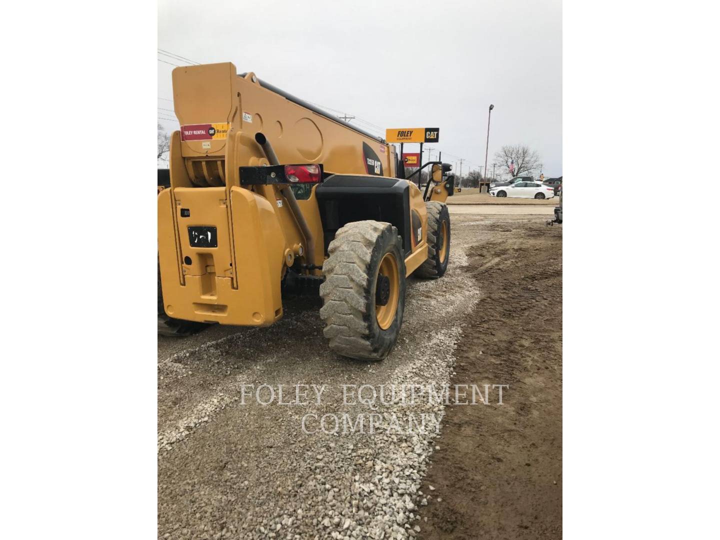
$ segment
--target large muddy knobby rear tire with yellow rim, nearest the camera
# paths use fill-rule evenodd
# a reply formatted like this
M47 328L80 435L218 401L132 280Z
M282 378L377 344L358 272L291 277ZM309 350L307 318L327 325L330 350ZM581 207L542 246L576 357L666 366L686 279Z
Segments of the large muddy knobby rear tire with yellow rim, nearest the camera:
M397 341L405 310L402 239L390 223L356 221L328 247L320 285L325 337L337 354L384 359Z

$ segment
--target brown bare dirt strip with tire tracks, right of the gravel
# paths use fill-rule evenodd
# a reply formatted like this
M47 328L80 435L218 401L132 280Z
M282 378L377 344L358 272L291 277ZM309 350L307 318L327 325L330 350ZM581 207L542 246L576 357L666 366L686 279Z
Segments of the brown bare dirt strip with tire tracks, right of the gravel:
M449 410L420 537L561 538L561 227L518 219L480 231L468 266L485 296L464 328L454 379L502 379L510 389L505 405Z

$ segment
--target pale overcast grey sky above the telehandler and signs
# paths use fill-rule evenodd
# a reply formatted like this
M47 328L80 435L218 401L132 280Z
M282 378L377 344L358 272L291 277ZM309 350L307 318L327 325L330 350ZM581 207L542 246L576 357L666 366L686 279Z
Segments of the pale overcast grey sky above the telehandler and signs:
M188 64L178 57L230 61L383 138L389 127L439 127L426 147L456 172L459 158L463 173L484 165L494 104L490 171L502 145L523 144L546 177L562 176L561 0L160 0L158 122L168 132L179 128L171 64Z

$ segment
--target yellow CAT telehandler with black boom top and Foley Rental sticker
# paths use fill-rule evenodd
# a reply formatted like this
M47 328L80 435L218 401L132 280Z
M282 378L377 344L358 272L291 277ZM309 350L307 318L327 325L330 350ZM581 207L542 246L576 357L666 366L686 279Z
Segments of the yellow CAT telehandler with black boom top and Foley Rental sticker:
M395 146L232 63L174 69L173 97L181 127L158 187L158 331L271 325L285 290L315 288L333 351L387 356L405 279L448 265L449 164L426 164L423 194Z

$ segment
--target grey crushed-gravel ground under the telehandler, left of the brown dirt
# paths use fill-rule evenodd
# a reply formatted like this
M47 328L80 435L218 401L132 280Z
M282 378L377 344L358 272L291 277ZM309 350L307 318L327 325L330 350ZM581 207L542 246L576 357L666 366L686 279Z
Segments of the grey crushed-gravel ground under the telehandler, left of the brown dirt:
M332 354L314 297L288 298L284 319L271 328L214 326L189 338L158 338L158 538L422 534L422 483L438 434L432 422L408 433L388 419L424 413L439 422L446 407L410 405L400 396L372 410L345 405L341 384L451 382L456 348L484 296L468 253L480 241L480 224L492 219L455 210L449 269L438 280L410 279L400 340L382 362ZM243 384L276 391L324 384L325 391L320 404L310 387L307 405L261 405L254 395L243 400ZM374 413L379 425L374 434L302 431L305 415L326 413Z

